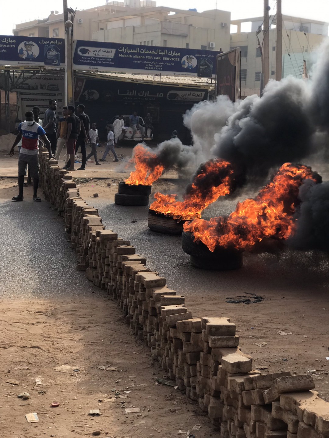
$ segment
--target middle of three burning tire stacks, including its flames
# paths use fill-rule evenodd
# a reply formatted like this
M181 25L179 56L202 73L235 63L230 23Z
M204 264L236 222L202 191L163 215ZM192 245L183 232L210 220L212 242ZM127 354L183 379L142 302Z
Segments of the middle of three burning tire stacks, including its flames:
M186 187L183 201L176 194L154 194L150 205L148 226L164 234L181 234L185 221L200 218L202 211L220 196L229 194L233 185L233 169L229 162L211 159L200 165L192 182Z

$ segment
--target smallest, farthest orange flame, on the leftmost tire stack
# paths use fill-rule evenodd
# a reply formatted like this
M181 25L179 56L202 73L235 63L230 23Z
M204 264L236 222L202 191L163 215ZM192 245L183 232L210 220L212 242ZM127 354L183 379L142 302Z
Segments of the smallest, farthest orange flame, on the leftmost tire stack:
M135 170L125 180L126 184L150 186L159 179L164 171L164 166L158 162L157 155L147 150L140 143L133 148L132 158Z

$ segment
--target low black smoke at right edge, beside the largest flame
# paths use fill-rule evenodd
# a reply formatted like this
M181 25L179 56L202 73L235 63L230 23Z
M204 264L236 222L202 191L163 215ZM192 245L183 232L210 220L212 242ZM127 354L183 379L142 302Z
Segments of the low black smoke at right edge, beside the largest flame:
M301 204L295 215L297 230L287 245L298 250L329 253L329 182L304 181L299 198Z

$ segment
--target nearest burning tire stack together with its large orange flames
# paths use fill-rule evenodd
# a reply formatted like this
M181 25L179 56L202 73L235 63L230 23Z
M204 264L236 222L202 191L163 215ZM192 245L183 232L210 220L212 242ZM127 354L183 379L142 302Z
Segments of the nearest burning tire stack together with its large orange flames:
M228 217L186 222L182 248L190 254L191 264L205 269L237 268L242 266L243 251L257 251L257 246L266 251L273 242L292 237L299 190L307 180L322 182L310 167L286 163L256 198L238 202Z

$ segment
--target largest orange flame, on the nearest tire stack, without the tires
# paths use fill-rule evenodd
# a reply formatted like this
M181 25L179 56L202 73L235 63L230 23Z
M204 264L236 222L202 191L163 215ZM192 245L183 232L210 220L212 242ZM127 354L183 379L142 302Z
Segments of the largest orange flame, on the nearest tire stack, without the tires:
M246 250L265 237L287 239L296 230L293 213L304 179L315 180L310 167L286 163L256 198L238 202L228 218L196 219L185 223L184 231L191 231L210 251L218 245Z

